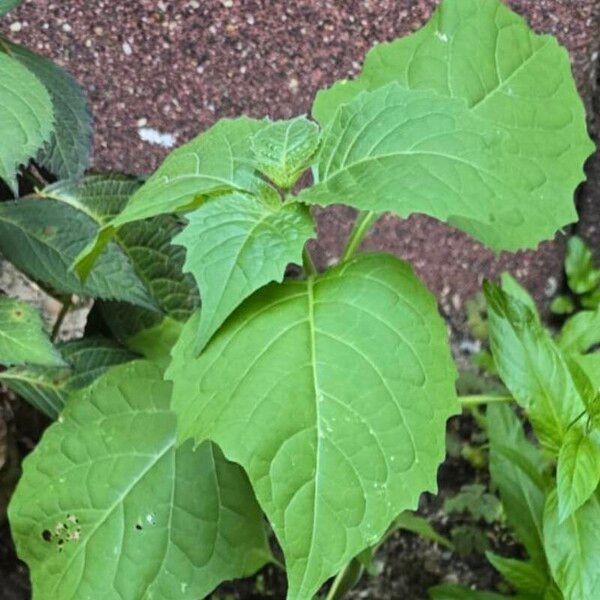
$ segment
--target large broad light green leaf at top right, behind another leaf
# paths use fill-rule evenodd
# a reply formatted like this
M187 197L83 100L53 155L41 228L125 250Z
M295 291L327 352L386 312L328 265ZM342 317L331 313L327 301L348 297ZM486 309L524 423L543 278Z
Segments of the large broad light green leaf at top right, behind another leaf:
M585 111L573 81L569 56L554 38L536 35L500 0L444 0L429 23L415 35L379 44L371 50L355 81L339 82L320 92L313 114L322 124L333 122L331 127L335 129L340 117L351 117L344 104L351 103L361 91L373 91L391 82L407 90L429 90L442 98L461 100L471 113L460 119L461 126L470 122L469 116L481 120L479 139L467 142L463 130L461 137L453 136L453 142L448 141L440 149L456 150L462 141L477 155L475 145L484 140L489 144L490 132L497 132L502 139L495 152L497 161L488 163L488 172L473 171L473 177L481 179L478 185L466 179L466 165L452 168L448 161L444 169L439 164L433 169L432 161L428 161L427 168L415 173L420 186L414 193L421 196L423 174L435 178L440 176L440 170L446 175L448 187L467 184L472 191L481 188L482 198L479 204L474 203L472 215L462 215L457 209L466 208L464 204L452 198L456 195L452 189L439 189L436 179L428 182L427 190L431 194L438 189L436 197L419 198L413 210L432 214L430 203L445 208L452 198L453 206L448 207L452 208L448 215L454 216L451 224L495 249L535 246L556 229L576 220L573 192L584 179L583 163L593 152L593 144L587 134ZM445 127L441 123L444 116ZM442 136L447 140L451 138L444 132L452 118L447 111L437 115ZM429 120L435 117L430 115ZM406 119L392 123L381 119L376 123L381 126L378 135L391 136L392 126L403 128L404 122L408 123ZM412 127L416 127L414 122ZM433 126L428 129L429 136L437 133ZM421 127L420 139L415 143L421 142L422 147L431 150L436 142L440 143L440 137L427 140L427 135ZM371 137L375 143L377 132L372 132ZM362 139L366 142L366 136ZM357 138L356 144L360 140ZM386 145L389 147L389 143ZM340 149L342 154L348 150L356 155L356 148L352 151L347 144L340 144ZM412 165L407 166L405 161L404 168L415 168L415 162L415 157ZM438 162L442 162L441 157ZM475 157L475 164L481 162ZM492 180L491 176L499 180ZM515 195L507 200L493 198L485 190L486 183L495 194L512 190ZM520 206L522 201L527 207ZM485 208L488 218L481 220ZM436 207L436 212L442 210ZM443 218L439 214L432 216ZM502 227L504 231L495 231Z

